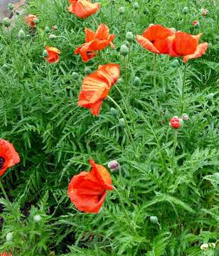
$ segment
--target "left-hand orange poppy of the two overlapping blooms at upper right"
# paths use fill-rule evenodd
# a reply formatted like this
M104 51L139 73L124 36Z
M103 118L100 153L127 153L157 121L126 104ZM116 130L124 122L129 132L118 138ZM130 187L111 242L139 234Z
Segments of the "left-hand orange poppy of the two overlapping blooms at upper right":
M153 25L147 28L143 35L137 35L137 41L143 48L151 51L152 53L168 54L167 38L173 35L170 28L164 28L161 25Z

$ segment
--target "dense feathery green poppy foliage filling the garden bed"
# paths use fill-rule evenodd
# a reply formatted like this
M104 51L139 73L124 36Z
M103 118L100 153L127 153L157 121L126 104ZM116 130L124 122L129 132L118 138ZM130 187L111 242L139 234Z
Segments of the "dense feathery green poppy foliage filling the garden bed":
M102 63L93 58L82 63L73 52L84 41L84 28L96 30L91 17L70 14L68 1L28 1L25 14L36 14L36 31L16 18L9 31L0 24L0 137L13 142L21 163L2 177L11 203L1 198L0 252L13 255L218 255L218 6L214 1L102 0L95 14L115 33L114 50L103 50L105 63L124 63L119 49L125 31L141 34L149 23L187 33L203 33L210 43L202 58L190 60L186 73L183 110L190 119L178 130L176 152L169 119L181 115L183 63L173 68L173 58L157 56L157 102L154 102L153 54L130 46L129 91L117 86L129 102L132 120L117 90L110 96L125 113L134 144L129 144L119 114L114 117L105 100L99 117L77 106L85 67L92 71ZM124 6L125 14L119 14ZM188 6L187 15L181 11ZM112 10L111 10L112 8ZM208 15L201 15L201 8ZM193 28L193 21L201 24ZM49 39L46 26L57 25ZM18 40L23 29L29 36ZM49 46L61 50L60 62L49 65L42 57ZM73 72L80 74L73 79ZM141 85L133 84L134 78ZM88 159L107 166L112 159L121 165L113 172L120 194L107 193L98 215L82 213L68 198L68 183L80 171L89 171ZM127 218L127 214L129 218ZM41 215L41 221L34 216ZM150 216L156 216L153 223ZM11 240L6 234L13 233ZM216 247L201 250L203 243Z

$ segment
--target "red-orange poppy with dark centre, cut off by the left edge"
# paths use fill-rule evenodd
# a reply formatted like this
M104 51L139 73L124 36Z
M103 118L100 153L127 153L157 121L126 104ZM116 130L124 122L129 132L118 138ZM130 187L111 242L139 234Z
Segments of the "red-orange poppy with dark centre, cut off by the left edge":
M5 139L0 139L0 176L11 166L18 164L19 161L20 157L14 146Z

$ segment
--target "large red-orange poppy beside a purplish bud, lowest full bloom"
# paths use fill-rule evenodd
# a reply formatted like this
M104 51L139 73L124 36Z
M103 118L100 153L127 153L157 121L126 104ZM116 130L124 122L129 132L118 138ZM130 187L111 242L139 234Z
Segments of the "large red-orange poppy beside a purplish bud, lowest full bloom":
M73 176L68 186L68 196L78 210L98 213L105 201L107 190L112 191L112 179L104 166L89 160L90 172L82 171Z

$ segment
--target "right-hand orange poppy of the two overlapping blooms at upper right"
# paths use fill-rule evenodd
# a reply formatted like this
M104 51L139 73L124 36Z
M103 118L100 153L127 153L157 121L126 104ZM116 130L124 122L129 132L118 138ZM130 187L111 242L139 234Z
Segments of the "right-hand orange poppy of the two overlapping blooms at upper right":
M183 63L193 58L199 58L208 48L208 43L200 43L201 34L196 36L177 31L169 37L169 55L172 57L183 57Z

